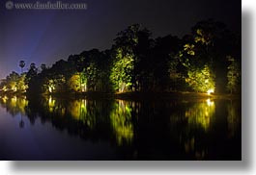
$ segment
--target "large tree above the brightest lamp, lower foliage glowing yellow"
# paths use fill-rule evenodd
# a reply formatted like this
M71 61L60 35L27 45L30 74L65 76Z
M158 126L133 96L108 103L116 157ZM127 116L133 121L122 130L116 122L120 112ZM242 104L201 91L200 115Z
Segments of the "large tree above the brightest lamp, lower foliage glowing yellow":
M203 70L207 72L206 70L209 69L212 76L210 80L214 81L210 83L213 85L210 87L215 88L217 84L217 90L221 91L226 69L225 57L230 45L227 44L229 38L231 38L230 33L225 25L213 19L200 21L192 28L191 35L184 39L184 49L180 53L181 62L185 65L187 74L185 80L189 87L202 91L202 89L197 89L197 83L201 84L202 81L195 80L195 78L204 78Z

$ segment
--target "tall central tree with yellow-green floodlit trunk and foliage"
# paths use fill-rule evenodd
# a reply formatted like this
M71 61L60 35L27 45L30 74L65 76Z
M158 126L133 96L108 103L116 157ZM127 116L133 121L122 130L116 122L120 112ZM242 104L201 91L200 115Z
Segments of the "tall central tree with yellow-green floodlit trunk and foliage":
M134 24L120 32L113 46L113 63L110 79L115 90L137 91L145 80L148 69L145 61L150 47L150 32Z

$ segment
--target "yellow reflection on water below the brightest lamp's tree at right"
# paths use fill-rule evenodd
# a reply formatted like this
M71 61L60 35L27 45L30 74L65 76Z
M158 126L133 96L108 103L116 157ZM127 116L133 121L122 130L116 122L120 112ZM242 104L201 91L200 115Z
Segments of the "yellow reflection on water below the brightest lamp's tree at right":
M203 140L207 140L211 120L215 114L215 103L211 99L197 102L185 111L187 124L181 134L180 141L184 145L185 153L192 160L205 160L208 147Z

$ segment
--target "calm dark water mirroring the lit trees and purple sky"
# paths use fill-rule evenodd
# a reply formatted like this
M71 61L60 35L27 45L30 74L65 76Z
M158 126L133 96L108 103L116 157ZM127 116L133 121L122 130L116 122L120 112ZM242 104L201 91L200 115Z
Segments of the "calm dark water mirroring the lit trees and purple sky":
M0 160L242 159L240 100L0 103Z

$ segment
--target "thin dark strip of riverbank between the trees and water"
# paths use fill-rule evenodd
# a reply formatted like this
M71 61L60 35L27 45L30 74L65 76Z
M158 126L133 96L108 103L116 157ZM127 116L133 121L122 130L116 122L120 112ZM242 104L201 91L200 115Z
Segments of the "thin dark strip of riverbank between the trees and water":
M241 99L240 94L207 94L196 92L123 92L123 93L109 93L109 92L83 92L83 93L51 93L51 94L26 94L26 93L0 93L0 96L53 96L56 98L65 99L120 99L120 100L198 100L198 99Z

